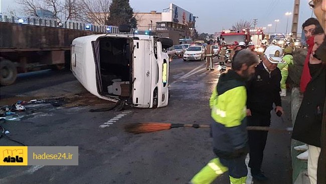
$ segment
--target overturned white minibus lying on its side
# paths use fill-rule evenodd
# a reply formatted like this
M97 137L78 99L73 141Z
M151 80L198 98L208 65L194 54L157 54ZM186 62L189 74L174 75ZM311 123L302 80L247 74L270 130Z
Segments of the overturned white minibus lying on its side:
M126 31L125 31L126 32ZM148 35L101 34L73 40L71 70L93 95L120 99L138 108L169 102L169 56L172 40Z

